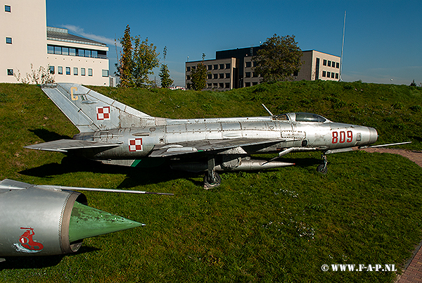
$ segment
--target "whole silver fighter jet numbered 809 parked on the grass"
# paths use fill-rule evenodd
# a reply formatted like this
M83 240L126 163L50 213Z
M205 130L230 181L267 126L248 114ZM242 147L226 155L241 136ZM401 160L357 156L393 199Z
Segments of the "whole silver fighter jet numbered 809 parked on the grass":
M172 168L206 171L204 187L221 182L216 171L260 170L294 163L276 158L291 152L351 151L378 139L372 127L331 122L311 113L267 117L168 119L152 117L80 84L44 84L43 92L77 127L73 139L25 146L83 156L106 164L136 167L146 159L178 160ZM267 109L268 111L268 109ZM279 153L271 160L251 154Z

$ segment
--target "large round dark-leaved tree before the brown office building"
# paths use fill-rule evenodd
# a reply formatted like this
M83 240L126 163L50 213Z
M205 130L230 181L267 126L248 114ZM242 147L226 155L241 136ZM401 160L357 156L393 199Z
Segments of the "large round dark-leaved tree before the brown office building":
M262 82L293 80L293 73L300 70L302 50L295 42L295 36L280 37L274 34L262 44L252 60L256 62L255 73L262 76Z

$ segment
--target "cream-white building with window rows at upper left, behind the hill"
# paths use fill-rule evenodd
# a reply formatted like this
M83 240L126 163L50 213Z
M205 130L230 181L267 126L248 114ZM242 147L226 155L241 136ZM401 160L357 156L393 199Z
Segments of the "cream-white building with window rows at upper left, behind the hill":
M108 46L68 30L46 26L45 0L2 1L0 11L0 82L18 82L40 67L56 82L110 84Z

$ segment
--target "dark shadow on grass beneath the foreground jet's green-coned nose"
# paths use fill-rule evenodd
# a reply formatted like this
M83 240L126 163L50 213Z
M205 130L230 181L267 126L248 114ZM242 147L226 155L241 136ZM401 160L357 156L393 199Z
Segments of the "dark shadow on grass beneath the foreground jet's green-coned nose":
M0 270L49 268L58 265L65 256L75 256L80 253L90 253L92 251L100 251L100 249L91 246L82 246L76 253L58 256L5 256L4 259L6 261L0 263Z

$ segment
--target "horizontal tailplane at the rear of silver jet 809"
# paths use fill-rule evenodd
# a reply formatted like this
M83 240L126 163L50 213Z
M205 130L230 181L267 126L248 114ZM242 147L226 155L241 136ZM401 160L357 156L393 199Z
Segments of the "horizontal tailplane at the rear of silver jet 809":
M24 146L26 149L38 149L40 151L58 151L58 152L69 152L77 149L94 149L103 148L111 149L113 147L120 146L120 143L105 143L105 142L90 142L82 141L79 139L59 139L53 142L44 142L42 144L32 144L30 146Z

